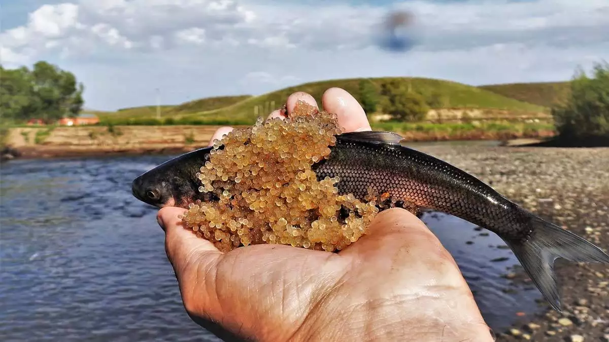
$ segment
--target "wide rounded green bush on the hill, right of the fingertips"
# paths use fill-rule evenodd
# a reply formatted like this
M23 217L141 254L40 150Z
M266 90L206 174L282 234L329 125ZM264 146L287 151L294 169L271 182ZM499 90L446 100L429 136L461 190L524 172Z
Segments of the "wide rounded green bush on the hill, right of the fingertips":
M381 95L383 110L395 120L420 121L429 111L425 98L399 81L383 83Z

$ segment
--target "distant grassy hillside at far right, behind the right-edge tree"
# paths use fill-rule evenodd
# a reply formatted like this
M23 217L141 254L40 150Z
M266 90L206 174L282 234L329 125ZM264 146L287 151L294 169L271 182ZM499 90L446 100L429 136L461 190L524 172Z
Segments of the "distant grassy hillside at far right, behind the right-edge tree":
M478 88L535 105L550 107L569 96L569 82L509 83Z

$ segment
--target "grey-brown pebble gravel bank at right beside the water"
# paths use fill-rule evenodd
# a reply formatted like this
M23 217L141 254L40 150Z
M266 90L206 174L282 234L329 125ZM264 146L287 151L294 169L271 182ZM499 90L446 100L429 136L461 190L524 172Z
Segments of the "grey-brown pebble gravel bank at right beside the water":
M424 147L541 217L609 247L609 148ZM609 341L609 267L559 259L560 314L540 302L498 341ZM514 282L529 282L522 269Z

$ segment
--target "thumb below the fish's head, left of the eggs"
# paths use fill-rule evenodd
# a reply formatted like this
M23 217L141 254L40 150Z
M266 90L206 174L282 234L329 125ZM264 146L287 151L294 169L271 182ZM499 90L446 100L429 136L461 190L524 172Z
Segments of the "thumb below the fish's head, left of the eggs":
M202 237L197 237L191 230L186 229L181 222L180 215L186 213L186 209L177 207L161 208L157 214L157 220L165 231L165 251L169 262L174 265L175 271L186 267L186 264L193 256L200 253L210 252L209 254L222 253L218 251L216 246ZM206 260L212 257L206 257Z

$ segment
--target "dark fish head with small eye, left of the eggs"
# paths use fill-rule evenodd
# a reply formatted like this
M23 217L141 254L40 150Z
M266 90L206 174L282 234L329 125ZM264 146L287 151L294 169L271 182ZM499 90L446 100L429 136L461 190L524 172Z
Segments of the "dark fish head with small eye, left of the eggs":
M197 199L206 200L199 192L202 184L196 175L208 160L210 150L188 152L144 172L132 182L133 196L157 208L188 208Z

